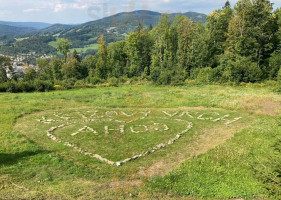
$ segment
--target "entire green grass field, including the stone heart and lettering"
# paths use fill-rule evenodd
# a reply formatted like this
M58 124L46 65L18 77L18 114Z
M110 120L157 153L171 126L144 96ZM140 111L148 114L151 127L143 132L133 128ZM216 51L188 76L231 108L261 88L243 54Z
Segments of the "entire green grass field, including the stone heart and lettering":
M123 86L0 102L0 199L281 197L281 97L269 87Z

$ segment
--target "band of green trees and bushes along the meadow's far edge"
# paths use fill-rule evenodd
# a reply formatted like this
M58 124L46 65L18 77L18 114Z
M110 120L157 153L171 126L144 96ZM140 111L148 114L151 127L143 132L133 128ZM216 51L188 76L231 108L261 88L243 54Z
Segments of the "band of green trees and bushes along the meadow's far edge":
M80 60L76 52L67 53L70 42L61 41L63 59L39 59L36 69L12 80L0 69L0 91L116 85L128 79L159 85L281 80L281 9L273 10L268 0L239 0L234 8L227 1L208 15L206 24L163 14L155 28L139 24L123 41L107 45L101 35L98 43L96 55Z

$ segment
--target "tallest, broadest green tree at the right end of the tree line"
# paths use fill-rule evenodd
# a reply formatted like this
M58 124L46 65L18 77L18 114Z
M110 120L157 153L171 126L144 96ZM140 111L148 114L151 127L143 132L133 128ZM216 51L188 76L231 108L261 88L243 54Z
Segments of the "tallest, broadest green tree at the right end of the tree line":
M234 57L249 57L262 67L274 50L276 26L272 10L268 0L238 1L229 24L227 52Z

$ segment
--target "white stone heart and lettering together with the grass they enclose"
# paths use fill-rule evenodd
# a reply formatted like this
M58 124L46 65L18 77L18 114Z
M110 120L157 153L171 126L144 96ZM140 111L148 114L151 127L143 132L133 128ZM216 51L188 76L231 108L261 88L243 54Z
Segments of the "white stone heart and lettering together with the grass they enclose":
M241 118L212 110L96 108L47 112L36 121L51 141L121 166L173 145L194 126L230 126Z

